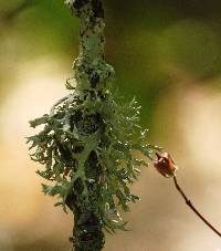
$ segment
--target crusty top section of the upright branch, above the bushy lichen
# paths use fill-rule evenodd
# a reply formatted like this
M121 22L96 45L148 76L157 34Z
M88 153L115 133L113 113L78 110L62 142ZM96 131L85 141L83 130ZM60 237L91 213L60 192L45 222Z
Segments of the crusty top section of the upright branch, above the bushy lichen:
M67 0L80 18L80 55L74 61L76 88L102 91L112 82L114 69L104 59L104 10L101 0Z

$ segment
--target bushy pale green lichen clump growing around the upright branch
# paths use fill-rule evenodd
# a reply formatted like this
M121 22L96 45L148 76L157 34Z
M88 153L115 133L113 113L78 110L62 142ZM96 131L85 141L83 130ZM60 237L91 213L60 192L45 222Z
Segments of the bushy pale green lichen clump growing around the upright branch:
M107 230L122 228L118 206L128 211L128 202L138 199L129 185L137 179L139 167L147 165L131 151L139 150L151 160L152 150L159 149L145 144L146 133L138 124L139 108L135 100L120 104L108 90L102 98L95 91L83 100L74 92L56 103L50 115L30 122L32 127L45 125L38 135L29 137L30 148L35 148L32 159L45 166L38 174L55 182L43 185L44 192L57 195L59 205L65 208L67 195L81 179L81 196L86 203L87 182L95 180L85 176L85 168L94 153L102 170L99 194L95 198L97 217Z

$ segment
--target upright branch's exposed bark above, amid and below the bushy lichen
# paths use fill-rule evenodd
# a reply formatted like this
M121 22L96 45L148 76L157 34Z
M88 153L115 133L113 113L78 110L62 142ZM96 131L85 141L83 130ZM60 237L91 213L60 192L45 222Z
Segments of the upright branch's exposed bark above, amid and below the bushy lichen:
M80 55L74 61L74 79L76 92L80 96L88 92L98 94L103 92L107 82L114 75L113 67L105 62L104 56L104 9L101 0L67 1L72 11L80 18ZM81 115L75 121L81 121ZM95 114L85 123L85 130L93 134L99 126L99 114ZM75 122L74 122L75 123ZM81 149L80 149L81 150ZM101 196L98 180L101 166L95 151L90 154L85 165L85 177L95 182L87 182L90 194L88 202L82 199L83 186L81 180L74 184L73 194L66 199L66 205L74 213L73 250L99 251L105 243L103 226L97 217L97 201Z

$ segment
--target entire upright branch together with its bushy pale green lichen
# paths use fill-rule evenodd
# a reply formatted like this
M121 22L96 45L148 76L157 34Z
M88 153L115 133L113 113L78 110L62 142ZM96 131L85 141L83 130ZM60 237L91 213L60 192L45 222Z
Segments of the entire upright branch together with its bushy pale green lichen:
M75 251L99 251L104 229L127 230L119 213L139 199L130 185L147 165L134 150L152 160L159 148L146 144L135 98L125 104L113 91L113 67L104 57L104 10L101 0L67 0L81 19L80 55L71 94L56 102L50 114L30 122L44 128L29 137L31 158L44 165L38 174L52 184L43 191L60 198L56 206L74 213L71 241ZM147 159L146 159L147 160Z

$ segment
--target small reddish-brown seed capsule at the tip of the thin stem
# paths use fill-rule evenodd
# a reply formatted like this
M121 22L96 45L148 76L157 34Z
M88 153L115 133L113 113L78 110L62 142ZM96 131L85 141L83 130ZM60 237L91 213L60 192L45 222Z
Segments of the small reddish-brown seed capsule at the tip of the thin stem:
M168 153L157 154L157 159L154 161L155 168L166 178L175 176L178 167Z

